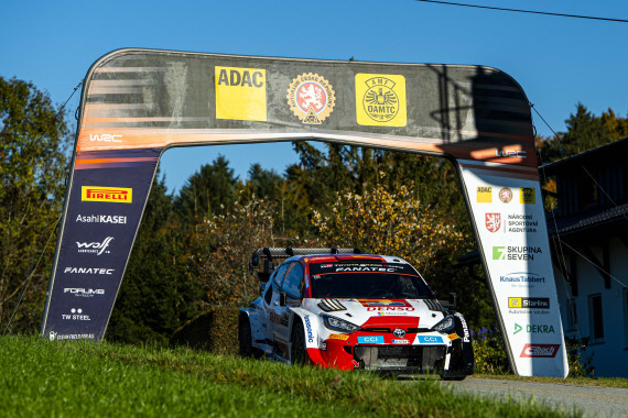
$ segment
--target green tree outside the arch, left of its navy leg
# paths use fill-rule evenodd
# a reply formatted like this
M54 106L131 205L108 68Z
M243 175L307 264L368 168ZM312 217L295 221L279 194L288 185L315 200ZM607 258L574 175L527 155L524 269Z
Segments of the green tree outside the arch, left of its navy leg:
M36 329L54 253L67 173L65 114L32 82L0 77L0 323L6 327L29 283L10 330ZM52 237L51 237L52 235ZM44 244L48 241L44 252ZM32 271L34 261L42 262ZM30 280L26 280L30 278Z

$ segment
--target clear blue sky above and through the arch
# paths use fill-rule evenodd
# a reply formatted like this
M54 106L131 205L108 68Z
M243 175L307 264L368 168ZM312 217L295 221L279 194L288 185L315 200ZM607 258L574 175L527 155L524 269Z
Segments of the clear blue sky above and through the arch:
M461 0L459 2L464 2ZM466 0L467 3L628 19L628 1ZM628 116L628 23L472 9L415 0L0 1L0 76L32 81L61 105L90 65L122 47L390 63L470 64L512 76L554 131L577 102ZM68 101L74 114L79 91ZM533 112L539 134L552 131ZM161 172L178 190L225 155L283 173L290 143L173 148Z

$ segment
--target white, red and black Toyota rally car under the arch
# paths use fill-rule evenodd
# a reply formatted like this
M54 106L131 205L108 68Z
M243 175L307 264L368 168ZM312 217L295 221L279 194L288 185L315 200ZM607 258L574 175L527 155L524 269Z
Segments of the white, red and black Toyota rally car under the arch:
M273 257L281 256L288 260L274 268ZM261 292L240 309L243 356L451 380L474 372L469 330L453 310L455 301L438 301L400 257L355 249L262 249L249 270Z

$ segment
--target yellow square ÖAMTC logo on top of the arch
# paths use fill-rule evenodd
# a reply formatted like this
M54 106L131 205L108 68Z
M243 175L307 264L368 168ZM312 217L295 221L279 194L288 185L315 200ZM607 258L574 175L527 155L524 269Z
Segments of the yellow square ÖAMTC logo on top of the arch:
M356 119L368 127L405 127L405 77L356 74Z

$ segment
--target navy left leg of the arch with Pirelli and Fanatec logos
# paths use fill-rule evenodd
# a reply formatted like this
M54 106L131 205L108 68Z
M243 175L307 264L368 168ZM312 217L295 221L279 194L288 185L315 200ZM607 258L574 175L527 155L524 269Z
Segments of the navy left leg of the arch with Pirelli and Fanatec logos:
M106 160L108 153L101 154L91 158ZM159 150L133 151L134 157L147 161L74 172L44 311L47 338L104 337L152 183L155 154Z

